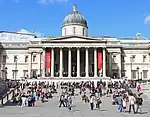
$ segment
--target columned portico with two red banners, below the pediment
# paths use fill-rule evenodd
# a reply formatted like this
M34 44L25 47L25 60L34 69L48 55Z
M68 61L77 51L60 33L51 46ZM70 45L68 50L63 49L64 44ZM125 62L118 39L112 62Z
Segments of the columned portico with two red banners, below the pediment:
M45 47L43 77L88 78L106 76L105 48Z

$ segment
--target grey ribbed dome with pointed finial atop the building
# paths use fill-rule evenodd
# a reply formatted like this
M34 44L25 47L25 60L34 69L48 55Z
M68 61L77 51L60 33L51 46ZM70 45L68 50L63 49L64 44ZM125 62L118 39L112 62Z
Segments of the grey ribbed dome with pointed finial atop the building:
M82 16L77 10L76 5L73 7L73 11L68 14L63 21L63 27L66 25L82 25L87 27L87 21L85 20L84 16Z

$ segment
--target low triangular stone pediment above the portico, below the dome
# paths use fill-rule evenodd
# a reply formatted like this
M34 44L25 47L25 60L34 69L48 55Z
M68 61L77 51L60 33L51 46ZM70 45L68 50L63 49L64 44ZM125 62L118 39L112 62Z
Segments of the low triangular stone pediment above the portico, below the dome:
M47 41L50 42L104 42L103 39L95 39L92 37L86 36L63 36L63 37L55 37L48 38Z

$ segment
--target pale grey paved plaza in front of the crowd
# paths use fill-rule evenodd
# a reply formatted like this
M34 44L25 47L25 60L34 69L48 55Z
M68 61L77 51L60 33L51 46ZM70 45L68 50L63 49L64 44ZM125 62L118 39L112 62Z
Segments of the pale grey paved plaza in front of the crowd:
M17 107L6 105L0 108L0 117L149 117L150 102L144 101L143 114L129 114L117 112L117 106L111 105L110 97L102 98L100 110L90 110L89 104L81 102L80 96L73 97L72 111L58 107L58 94L48 102L37 101L35 107Z

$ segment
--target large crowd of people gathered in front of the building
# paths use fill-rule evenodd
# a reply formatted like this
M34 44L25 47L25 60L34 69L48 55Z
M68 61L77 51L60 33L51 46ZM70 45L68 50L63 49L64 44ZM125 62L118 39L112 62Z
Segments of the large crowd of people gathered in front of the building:
M81 97L83 103L88 103L90 109L100 109L103 103L103 97L110 98L112 105L118 105L119 112L142 113L143 99L138 88L138 95L132 93L130 87L133 87L128 81L124 82L25 82L21 84L18 90L13 91L12 102L17 106L27 107L35 106L36 101L45 102L46 99L53 98L54 93L59 95L59 107L66 107L72 110L73 96ZM77 94L76 95L76 91ZM136 105L136 106L135 106ZM135 108L136 107L136 108Z

